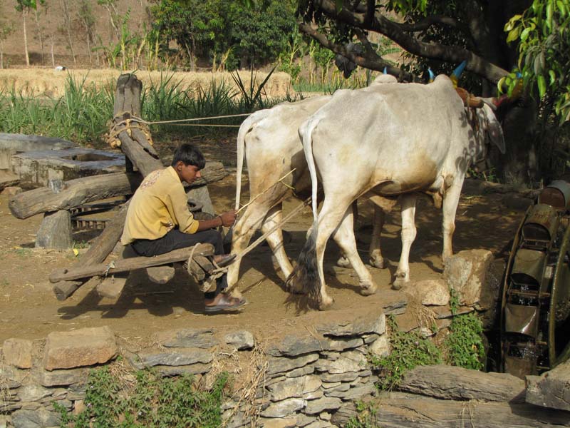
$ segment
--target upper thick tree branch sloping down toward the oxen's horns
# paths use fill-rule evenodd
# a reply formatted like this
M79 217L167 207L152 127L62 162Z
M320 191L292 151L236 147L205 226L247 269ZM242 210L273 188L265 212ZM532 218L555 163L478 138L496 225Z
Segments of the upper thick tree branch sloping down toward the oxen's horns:
M314 5L321 9L321 11L323 11L323 14L326 14L326 16L331 19L341 21L344 24L348 24L349 26L353 26L358 29L375 31L376 33L383 34L384 36L388 37L388 39L394 41L403 49L410 52L410 54L422 56L423 58L432 58L440 61L447 61L450 63L460 63L463 60L467 60L468 70L476 73L483 78L487 78L493 83L497 83L500 78L507 75L507 71L503 68L495 66L493 63L486 61L484 58L477 56L472 51L468 51L467 49L462 49L457 46L423 43L415 37L408 35L407 31L403 30L403 28L405 28L403 26L408 24L397 24L385 18L385 16L378 12L375 13L373 22L369 25L366 25L365 14L352 12L346 8L341 9L341 11L336 11L334 0L315 0ZM319 43L321 43L321 40L316 37L314 38L318 40ZM323 46L326 46L326 44L321 44ZM340 53L337 51L335 52L337 54ZM341 55L343 54L341 53ZM364 65L366 61L361 60L361 62L358 62L356 61L356 58L351 58L351 56L346 57L350 58L358 65L371 68L371 66ZM374 70L378 70L376 67L372 68Z

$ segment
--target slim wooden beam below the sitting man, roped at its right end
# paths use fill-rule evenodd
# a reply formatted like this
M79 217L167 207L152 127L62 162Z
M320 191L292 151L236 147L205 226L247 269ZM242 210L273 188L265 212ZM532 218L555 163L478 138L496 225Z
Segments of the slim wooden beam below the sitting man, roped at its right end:
M169 263L183 262L190 258L192 252L195 255L213 255L214 246L212 244L198 244L198 247L180 248L157 255L155 257L137 257L124 260L115 260L114 263L98 263L97 265L88 265L83 267L72 267L71 269L62 269L53 272L49 280L50 282L78 280L96 275L114 275L118 272L128 272L135 269L143 269L151 266L167 265Z

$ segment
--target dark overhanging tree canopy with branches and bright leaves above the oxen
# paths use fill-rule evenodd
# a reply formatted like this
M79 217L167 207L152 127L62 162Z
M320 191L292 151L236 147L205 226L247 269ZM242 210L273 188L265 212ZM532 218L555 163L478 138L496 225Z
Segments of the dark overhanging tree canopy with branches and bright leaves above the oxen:
M359 66L387 67L413 81L427 76L428 67L449 73L467 61L467 71L509 94L522 76L524 88L554 99L556 114L569 120L567 1L299 0L298 6L304 34ZM369 41L372 33L392 40L415 61L393 66ZM346 48L354 38L362 54ZM494 93L488 84L484 90Z

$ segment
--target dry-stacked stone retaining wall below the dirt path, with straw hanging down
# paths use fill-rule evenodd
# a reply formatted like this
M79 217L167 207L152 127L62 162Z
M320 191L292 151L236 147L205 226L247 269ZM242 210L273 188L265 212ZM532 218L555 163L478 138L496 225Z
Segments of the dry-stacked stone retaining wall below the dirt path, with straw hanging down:
M134 369L192 373L197 382L222 370L234 372L237 387L222 406L227 427L251 426L252 419L260 427L331 427L343 403L375 393L377 377L366 355L387 355L385 330L380 309L274 342L257 341L246 330L214 334L189 328L160 332L152 346L133 349L108 327L52 332L45 340L9 339L0 365L0 411L8 415L0 417L0 427L58 426L52 402L82 409L88 367L118 355Z

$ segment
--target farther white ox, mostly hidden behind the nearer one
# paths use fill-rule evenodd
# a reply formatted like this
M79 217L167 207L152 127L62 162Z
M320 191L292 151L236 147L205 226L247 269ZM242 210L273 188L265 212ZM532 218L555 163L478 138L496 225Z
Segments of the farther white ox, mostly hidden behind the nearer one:
M395 83L393 76L381 75L373 81L379 83ZM294 193L302 195L309 193L311 178L303 146L299 140L298 128L319 108L331 100L331 96L306 98L295 103L280 103L272 108L257 111L249 116L239 128L237 135L237 188L236 209L239 209L239 199L242 189L242 169L244 155L249 172L249 200L251 201L232 231L232 253L239 254L247 247L255 230L261 228L266 233L281 222L281 202ZM278 182L295 168L282 182ZM276 184L275 184L276 183ZM275 185L274 185L275 184ZM267 190L271 187L270 190ZM267 190L267 191L266 191ZM264 193L265 192L265 193ZM261 194L263 193L263 194ZM390 207L386 207L390 208ZM375 267L383 267L380 251L380 230L384 221L384 212L375 209L374 233L370 248L370 263ZM343 231L344 238L337 240L341 245L347 239L353 238L352 225L350 230ZM339 235L340 236L340 235ZM277 228L267 236L267 242L274 253L281 272L285 278L291 275L293 267L283 248L283 234ZM339 265L348 266L349 260L341 258ZM350 262L351 263L351 262ZM237 284L240 260L229 265L227 282L229 289ZM353 265L354 266L354 265ZM358 267L355 267L358 268ZM366 289L369 282L363 284ZM373 290L370 290L373 292Z

